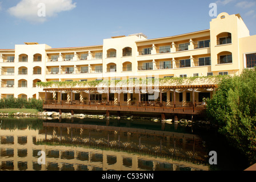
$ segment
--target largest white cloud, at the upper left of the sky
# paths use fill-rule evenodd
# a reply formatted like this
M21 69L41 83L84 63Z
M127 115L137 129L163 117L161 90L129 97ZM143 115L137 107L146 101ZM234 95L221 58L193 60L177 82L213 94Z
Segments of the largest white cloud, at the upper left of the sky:
M42 13L42 6L38 6L40 3L45 5L45 16L38 16L38 12ZM8 12L19 19L43 23L58 13L73 10L75 7L76 3L72 0L21 0L16 6L10 7Z

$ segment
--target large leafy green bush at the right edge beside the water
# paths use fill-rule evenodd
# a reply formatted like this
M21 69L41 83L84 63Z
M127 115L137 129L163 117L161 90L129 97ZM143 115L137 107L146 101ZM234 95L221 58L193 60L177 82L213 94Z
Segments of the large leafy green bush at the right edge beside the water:
M219 126L219 132L255 163L256 69L223 78L213 98L207 100L206 113Z

